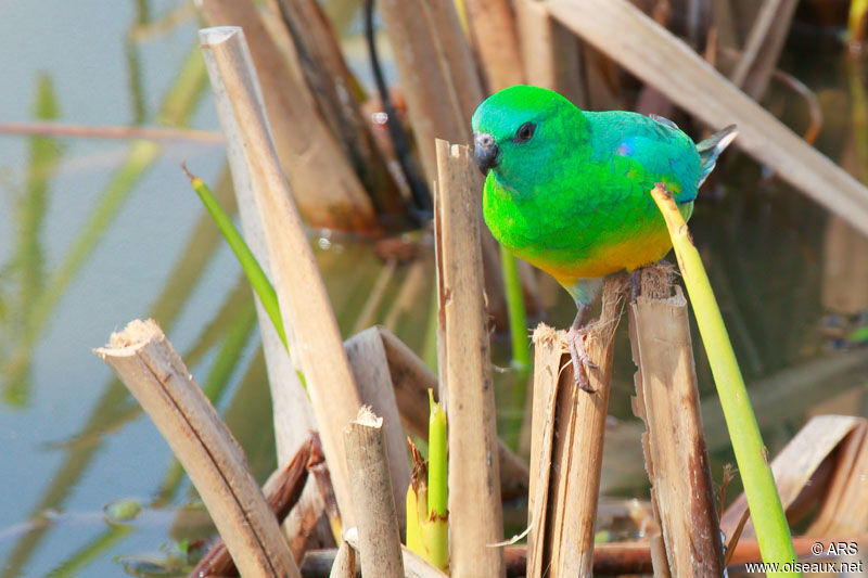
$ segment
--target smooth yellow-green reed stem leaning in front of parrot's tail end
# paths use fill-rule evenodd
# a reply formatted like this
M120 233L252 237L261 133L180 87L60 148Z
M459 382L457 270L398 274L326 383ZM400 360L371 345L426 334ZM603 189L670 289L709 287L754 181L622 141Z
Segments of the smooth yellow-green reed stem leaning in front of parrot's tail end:
M766 448L756 425L751 400L744 387L732 344L724 325L720 309L714 298L709 277L697 247L675 200L662 184L656 184L651 196L666 220L678 268L690 295L697 316L702 344L709 356L714 385L720 398L732 451L741 472L744 494L751 509L764 562L786 564L796 560L790 538L790 527L783 515L775 478L766 459ZM792 573L799 574L799 573Z

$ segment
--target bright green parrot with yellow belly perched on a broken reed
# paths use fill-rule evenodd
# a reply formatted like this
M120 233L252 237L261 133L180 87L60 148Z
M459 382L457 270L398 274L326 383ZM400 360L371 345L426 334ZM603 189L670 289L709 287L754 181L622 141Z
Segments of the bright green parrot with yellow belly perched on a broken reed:
M548 272L576 304L570 352L589 390L582 335L607 275L663 258L672 243L650 191L662 182L685 218L737 131L699 144L674 123L587 112L544 88L514 86L473 113L474 157L487 172L485 222L515 256Z

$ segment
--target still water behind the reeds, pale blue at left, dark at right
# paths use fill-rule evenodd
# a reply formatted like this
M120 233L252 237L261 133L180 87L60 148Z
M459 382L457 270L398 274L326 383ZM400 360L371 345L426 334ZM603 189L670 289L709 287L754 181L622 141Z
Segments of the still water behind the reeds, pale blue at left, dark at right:
M13 1L0 5L0 69L5 87L0 91L0 121L33 118L38 77L43 74L53 86L60 120L154 125L164 94L195 46L197 25L189 13L184 15L182 3L151 2L152 18L158 21L170 11L181 10L179 20L149 28L130 41L139 7L136 2L95 1ZM846 149L841 143L847 141L843 131L848 130L850 108L840 47L827 47L820 52L824 60L805 60L799 46L791 42L783 66L804 73L797 76L827 104L828 128L819 145L833 158L841 158ZM363 66L363 59L354 57L353 62ZM366 75L362 72L360 76ZM804 118L799 102L784 89L773 91L775 110L792 118L793 124ZM845 106L840 105L842 102ZM217 130L207 92L189 125ZM52 145L59 147L60 155L49 174L47 209L40 213L42 265L39 259L26 261L31 271L41 273L39 279L48 291L130 150L129 142L117 140L64 139ZM3 368L15 345L26 338L28 325L16 321L17 317L37 301L33 293L22 298L22 269L12 262L18 255L16 239L23 217L16 203L27 192L24 183L30 165L29 146L28 138L0 136ZM221 179L219 145L164 145L50 308L33 347L25 348L29 363L24 367L29 369L14 381L12 373L3 373L3 576L43 576L59 568L85 576L118 575L123 571L118 556L133 556L139 563L151 558L165 562L171 555L180 556L179 541L205 532L207 522L202 511L184 509L191 500L189 483L181 480L166 488L173 472L168 447L123 386L113 381L107 368L90 352L129 320L154 314L202 381L227 327L241 322L239 311L248 297L244 285L239 285L240 269L203 218L200 202L179 169L181 160L209 183ZM710 264L748 381L763 383L782 369L809 364L817 356L840 355L829 349L840 345L839 337L845 332L827 327L830 323L825 321L829 312L824 307L822 290L828 216L780 182L763 179L758 168L743 157L725 164L722 174L726 178L717 194L703 193L691 228ZM339 322L344 335L349 335L358 329L359 312L383 261L370 245L339 237L318 240L314 234ZM372 317L390 324L417 351L424 345L422 329L433 283L430 247L422 243L419 253L421 266L395 265L383 301ZM181 259L187 259L187 265L176 270ZM197 267L199 278L184 279L183 273L192 274ZM572 318L572 305L560 290L552 296L546 317L564 326ZM392 307L394 303L399 306ZM214 319L218 322L206 331ZM833 324L857 324L846 317L835 319ZM261 480L273 467L273 441L257 350L258 339L252 332L217 407ZM618 427L626 432L624 438L633 441L637 426L629 410L634 368L628 351L622 331L611 403L612 414L623 421ZM508 343L502 337L496 336L495 354L496 363L508 363ZM714 407L710 373L699 348L697 360L707 415L714 415L719 410ZM510 375L497 376L502 390ZM852 387L848 383L842 385L830 377L826 387L840 391ZM776 404L786 419L767 423L760 416L773 451L804 421L810 399L793 398L784 390ZM854 411L865 414L863 408ZM507 409L502 413L510 415ZM731 455L725 445L713 446L712 452L713 473L719 478L720 464L731 461ZM643 494L647 490L638 455L635 444L624 453L608 452L604 488ZM144 510L128 526L108 525L103 508L127 498L138 500Z

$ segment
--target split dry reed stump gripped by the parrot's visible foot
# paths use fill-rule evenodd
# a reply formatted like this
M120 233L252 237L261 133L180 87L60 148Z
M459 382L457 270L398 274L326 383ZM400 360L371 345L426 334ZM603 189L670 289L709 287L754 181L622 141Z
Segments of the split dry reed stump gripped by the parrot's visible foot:
M591 394L575 385L566 333L546 325L534 332L529 577L591 575L612 342L625 288L623 275L605 281L600 319L585 336L585 349L599 365L588 370Z

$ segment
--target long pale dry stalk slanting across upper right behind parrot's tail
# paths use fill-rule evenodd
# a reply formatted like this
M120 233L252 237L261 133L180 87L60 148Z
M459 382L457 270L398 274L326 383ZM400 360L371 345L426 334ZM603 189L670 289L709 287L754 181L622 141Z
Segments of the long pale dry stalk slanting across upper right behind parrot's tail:
M712 127L736 123L737 146L868 233L868 190L626 0L547 0L552 15Z

